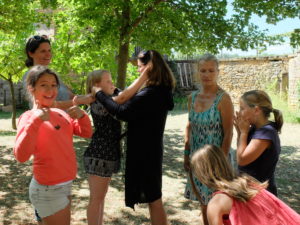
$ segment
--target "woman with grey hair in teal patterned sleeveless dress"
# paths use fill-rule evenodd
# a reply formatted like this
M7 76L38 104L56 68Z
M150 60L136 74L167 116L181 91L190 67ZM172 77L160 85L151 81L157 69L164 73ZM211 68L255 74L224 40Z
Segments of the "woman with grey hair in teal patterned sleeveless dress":
M192 154L206 144L220 147L228 158L233 130L233 105L230 96L218 86L219 63L211 54L203 55L198 63L197 78L200 87L189 96L189 118L185 132L184 168L190 170ZM206 206L212 191L193 176L198 193L202 198L203 220L206 219ZM188 177L184 196L197 201Z

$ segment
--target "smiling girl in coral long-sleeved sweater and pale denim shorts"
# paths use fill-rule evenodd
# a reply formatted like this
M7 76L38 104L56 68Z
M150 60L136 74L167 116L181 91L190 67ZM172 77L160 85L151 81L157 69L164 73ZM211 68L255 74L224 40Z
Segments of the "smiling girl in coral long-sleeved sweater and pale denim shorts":
M58 94L57 75L45 66L28 72L27 89L33 109L18 121L14 155L19 162L33 156L29 198L43 224L70 224L70 195L77 163L73 135L91 137L89 117L73 106L67 113L51 108Z

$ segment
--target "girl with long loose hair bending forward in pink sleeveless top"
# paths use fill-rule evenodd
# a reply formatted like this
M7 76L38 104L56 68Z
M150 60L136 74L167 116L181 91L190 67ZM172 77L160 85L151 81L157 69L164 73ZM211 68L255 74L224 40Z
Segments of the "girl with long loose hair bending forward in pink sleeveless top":
M205 145L195 152L191 165L202 183L218 190L208 203L210 225L300 224L299 214L265 190L267 182L237 176L218 147Z

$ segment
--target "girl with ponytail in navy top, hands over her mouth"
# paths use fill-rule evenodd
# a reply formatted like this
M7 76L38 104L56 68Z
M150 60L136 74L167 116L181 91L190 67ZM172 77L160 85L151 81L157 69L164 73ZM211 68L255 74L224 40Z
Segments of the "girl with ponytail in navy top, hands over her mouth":
M271 112L274 113L275 122L269 121ZM240 112L235 118L239 171L260 182L269 181L267 190L276 196L274 173L281 150L278 133L282 124L282 114L273 109L267 93L253 90L242 95Z

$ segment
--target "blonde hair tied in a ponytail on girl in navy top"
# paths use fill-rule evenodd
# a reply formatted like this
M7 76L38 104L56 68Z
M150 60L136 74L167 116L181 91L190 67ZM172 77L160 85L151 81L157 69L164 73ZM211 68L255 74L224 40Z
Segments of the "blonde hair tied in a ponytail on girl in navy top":
M266 92L261 90L247 91L241 98L249 107L258 106L266 118L269 118L270 113L273 112L276 130L280 133L283 125L282 113L280 110L273 108L271 98Z

